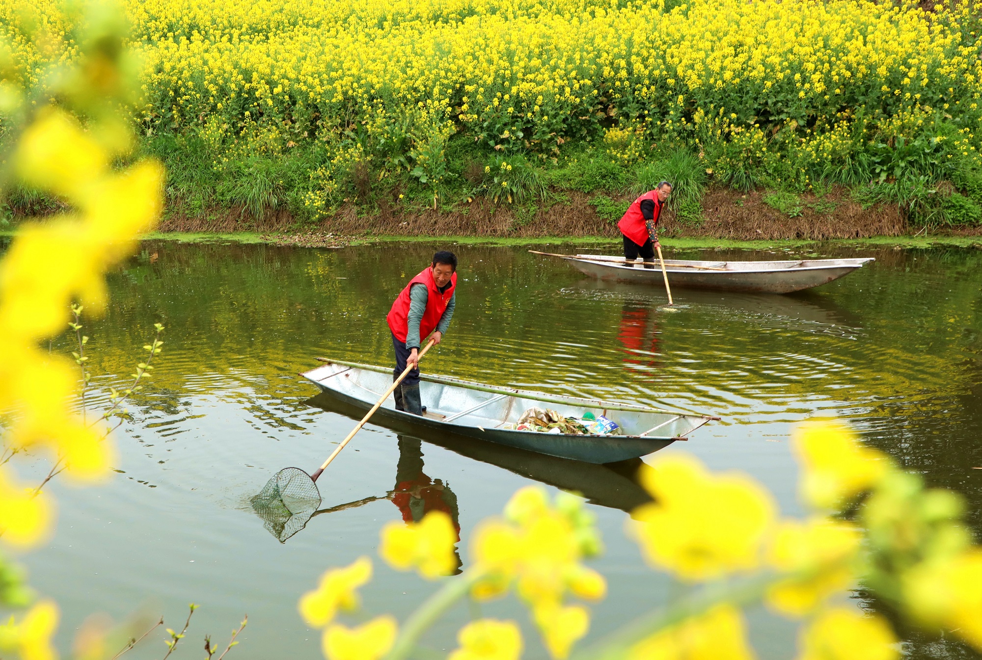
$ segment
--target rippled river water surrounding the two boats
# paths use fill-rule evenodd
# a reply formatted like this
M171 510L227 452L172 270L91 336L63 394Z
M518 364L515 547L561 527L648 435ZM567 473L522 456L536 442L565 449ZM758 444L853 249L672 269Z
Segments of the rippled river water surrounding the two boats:
M167 328L165 350L152 383L129 406L132 419L115 433L114 478L84 489L56 478L48 488L59 500L57 533L23 558L32 584L62 606L63 648L90 613L116 620L162 613L168 627L179 628L193 601L200 609L174 658L200 655L204 633L227 639L246 613L242 644L227 657L318 658L319 635L300 620L297 600L326 568L360 555L376 557L375 578L362 589L365 610L404 619L435 585L377 559L379 529L410 515L407 503L400 508L384 497L397 486L454 512L466 567L475 523L500 512L519 487L588 483L582 490L590 491L587 506L606 544L593 566L610 582L607 600L592 608L590 638L678 590L644 566L624 533L622 509L636 503L636 493L610 485L623 475L481 443L420 442L369 424L319 481L322 507L337 509L282 544L251 512L249 498L273 472L316 468L354 424L311 406L315 388L298 372L315 366L316 356L388 364L389 305L441 247L150 242L111 275L108 313L85 321L96 374L92 410L132 372L154 322ZM424 370L721 415L663 453L686 451L710 468L748 472L791 516L803 513L792 425L839 416L905 468L961 492L979 530L982 251L820 247L823 255L877 261L793 296L680 290L682 310L667 313L658 308L665 302L658 287L600 284L518 247L450 247L461 260L457 313ZM773 259L816 252L673 255L700 253ZM70 350L68 339L53 350ZM46 469L39 458L21 467L25 478ZM338 506L347 503L358 504ZM544 656L514 600L482 613L516 616L525 657ZM468 617L465 607L454 612L427 643L452 648ZM749 620L762 658L793 655L793 624L761 610ZM127 657L161 657L162 640L158 629ZM965 653L951 641L919 639L908 650L912 657Z

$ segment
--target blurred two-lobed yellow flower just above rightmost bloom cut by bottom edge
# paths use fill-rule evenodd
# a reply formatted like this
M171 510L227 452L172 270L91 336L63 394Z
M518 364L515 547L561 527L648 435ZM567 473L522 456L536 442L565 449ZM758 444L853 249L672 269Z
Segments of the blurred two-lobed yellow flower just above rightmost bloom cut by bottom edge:
M861 541L862 533L855 526L827 518L782 523L767 560L793 577L775 582L767 592L767 603L782 614L803 616L842 592L854 578L852 563Z

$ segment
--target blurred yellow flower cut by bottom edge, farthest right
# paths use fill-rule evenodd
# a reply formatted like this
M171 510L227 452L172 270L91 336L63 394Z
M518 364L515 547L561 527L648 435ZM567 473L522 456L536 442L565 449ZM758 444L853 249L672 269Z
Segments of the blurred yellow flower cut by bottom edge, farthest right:
M802 630L797 660L897 660L898 639L887 620L836 607Z

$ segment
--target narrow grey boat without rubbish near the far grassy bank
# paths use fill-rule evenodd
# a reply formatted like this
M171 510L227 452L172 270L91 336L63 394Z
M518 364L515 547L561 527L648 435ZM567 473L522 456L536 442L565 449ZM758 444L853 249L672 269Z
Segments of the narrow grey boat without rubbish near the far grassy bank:
M626 262L623 256L602 254L535 254L559 256L581 272L602 280L664 286L662 270ZM673 287L717 289L749 293L790 294L811 289L851 273L873 257L854 259L797 259L791 261L687 261L665 259L665 270Z

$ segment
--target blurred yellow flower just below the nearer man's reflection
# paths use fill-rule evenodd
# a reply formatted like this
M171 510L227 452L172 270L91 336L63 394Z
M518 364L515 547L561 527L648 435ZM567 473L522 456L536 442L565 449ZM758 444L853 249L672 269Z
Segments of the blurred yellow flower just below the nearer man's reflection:
M440 578L457 568L455 543L457 532L450 516L431 511L419 523L387 523L379 555L399 571L416 569L424 578Z

